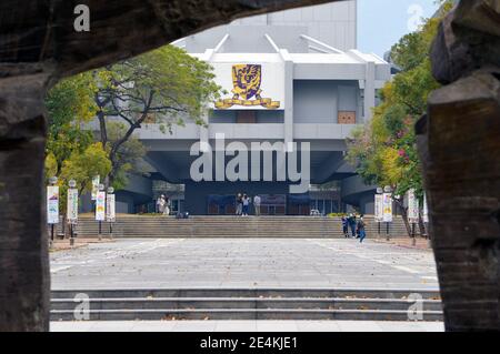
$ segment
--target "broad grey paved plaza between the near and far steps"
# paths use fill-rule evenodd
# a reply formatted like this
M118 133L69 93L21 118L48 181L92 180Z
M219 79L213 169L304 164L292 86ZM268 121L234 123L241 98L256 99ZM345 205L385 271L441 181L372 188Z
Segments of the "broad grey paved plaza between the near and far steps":
M438 289L431 251L366 240L117 240L51 254L52 289Z

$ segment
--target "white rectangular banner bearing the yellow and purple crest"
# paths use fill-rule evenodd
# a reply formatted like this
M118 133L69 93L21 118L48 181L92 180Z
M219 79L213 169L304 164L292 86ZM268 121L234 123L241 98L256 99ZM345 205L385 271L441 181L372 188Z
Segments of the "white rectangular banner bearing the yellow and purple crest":
M217 84L228 91L214 102L214 109L283 110L284 64L273 60L248 61L248 54L241 59L238 62L210 62Z

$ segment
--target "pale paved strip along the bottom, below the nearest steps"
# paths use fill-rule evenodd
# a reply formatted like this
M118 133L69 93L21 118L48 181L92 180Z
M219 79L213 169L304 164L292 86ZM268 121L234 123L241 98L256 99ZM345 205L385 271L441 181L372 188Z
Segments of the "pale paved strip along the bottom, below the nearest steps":
M86 321L51 322L52 332L443 332L442 322Z

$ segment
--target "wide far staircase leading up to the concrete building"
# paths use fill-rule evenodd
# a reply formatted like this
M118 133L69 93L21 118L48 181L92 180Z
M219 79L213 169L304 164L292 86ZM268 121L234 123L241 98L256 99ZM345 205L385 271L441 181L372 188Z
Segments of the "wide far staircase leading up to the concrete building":
M373 216L366 216L367 237L378 236ZM97 236L98 222L92 216L81 216L79 236ZM109 224L102 223L102 234L109 233ZM406 235L403 221L394 218L390 235ZM380 236L386 235L381 224ZM119 215L113 224L113 236L120 237L343 237L340 218L322 216L173 216Z

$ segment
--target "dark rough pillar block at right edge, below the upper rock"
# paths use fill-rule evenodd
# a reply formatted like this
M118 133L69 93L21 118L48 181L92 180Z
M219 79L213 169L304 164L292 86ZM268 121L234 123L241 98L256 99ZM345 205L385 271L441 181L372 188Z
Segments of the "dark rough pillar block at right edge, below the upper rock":
M419 123L446 327L498 330L500 69L431 93Z

